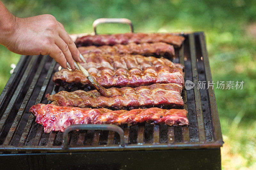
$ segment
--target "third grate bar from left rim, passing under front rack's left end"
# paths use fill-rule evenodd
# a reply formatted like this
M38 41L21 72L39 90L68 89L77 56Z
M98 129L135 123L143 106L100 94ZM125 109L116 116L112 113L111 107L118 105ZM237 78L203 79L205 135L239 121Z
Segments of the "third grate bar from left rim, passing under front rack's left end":
M38 103L40 103L42 101L44 93L45 93L45 90L46 90L46 87L49 84L50 77L52 75L52 72L54 70L54 66L55 65L56 65L56 61L52 60L51 65L49 67L49 70L47 71L47 74L45 76L45 79L44 79L43 85L41 87L41 90L39 92L39 95L36 98L35 104L38 104ZM28 117L28 122L27 122L27 124L26 124L26 126L24 128L24 131L23 131L23 133L22 133L22 135L20 137L20 141L19 141L19 144L18 144L19 146L25 144L26 139L28 137L29 130L31 129L32 123L34 122L34 118L35 117L32 114L30 114L30 116Z

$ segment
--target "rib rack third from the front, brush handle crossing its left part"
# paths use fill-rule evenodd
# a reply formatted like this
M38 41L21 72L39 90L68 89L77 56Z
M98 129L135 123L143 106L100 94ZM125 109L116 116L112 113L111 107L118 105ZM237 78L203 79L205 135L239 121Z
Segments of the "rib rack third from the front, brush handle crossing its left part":
M106 67L89 68L88 72L103 87L139 87L142 85L152 85L155 83L179 83L184 86L182 69L163 65L158 67L147 67L145 69L132 68L130 70L111 70ZM56 85L65 88L87 87L93 88L90 81L78 70L69 71L63 69L54 74L53 81Z

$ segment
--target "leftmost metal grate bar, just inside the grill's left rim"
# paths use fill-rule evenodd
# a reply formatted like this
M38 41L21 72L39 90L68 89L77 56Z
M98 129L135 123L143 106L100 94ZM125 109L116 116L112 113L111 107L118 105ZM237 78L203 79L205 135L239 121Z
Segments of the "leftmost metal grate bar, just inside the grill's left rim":
M34 65L34 62L35 62L36 58L37 58L37 57L32 57L31 60L29 61L28 67L27 67L27 69L25 70L25 72L24 72L24 74L23 74L23 76L22 76L22 78L21 78L21 80L20 80L20 83L19 83L17 89L16 89L16 91L14 92L14 94L13 94L13 96L12 96L12 99L11 99L11 101L9 102L9 104L8 104L8 106L7 106L7 108L6 108L5 112L4 112L4 114L3 114L3 116L1 117L1 120L0 120L0 130L1 130L1 131L0 131L0 136L1 136L2 132L3 132L3 131L2 131L2 130L3 130L3 127L4 127L4 125L5 125L5 123L6 123L7 119L8 119L8 117L9 117L9 115L10 115L10 112L11 112L11 110L12 110L12 108L13 108L13 106L14 106L16 100L17 100L18 97L19 97L19 94L20 94L20 92L21 92L21 90L22 90L22 87L24 86L24 84L25 84L25 82L26 82L26 79L27 79L27 77L28 77L28 75L29 75L29 73L30 73L30 71L31 71L31 68L32 68L33 65Z

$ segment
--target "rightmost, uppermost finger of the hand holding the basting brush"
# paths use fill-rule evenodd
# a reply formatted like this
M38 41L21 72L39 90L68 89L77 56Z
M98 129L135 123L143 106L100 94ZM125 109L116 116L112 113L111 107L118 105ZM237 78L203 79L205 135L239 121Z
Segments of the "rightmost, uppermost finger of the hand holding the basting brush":
M58 22L59 23L59 22ZM75 43L73 42L73 40L71 39L71 37L68 35L68 33L65 31L64 27L62 26L62 24L60 24L60 31L59 31L59 36L60 38L65 41L65 43L68 45L68 49L71 53L71 56L73 57L74 60L76 60L77 62L81 62L80 60L80 52L78 51L78 49L76 48ZM70 63L69 63L70 64Z

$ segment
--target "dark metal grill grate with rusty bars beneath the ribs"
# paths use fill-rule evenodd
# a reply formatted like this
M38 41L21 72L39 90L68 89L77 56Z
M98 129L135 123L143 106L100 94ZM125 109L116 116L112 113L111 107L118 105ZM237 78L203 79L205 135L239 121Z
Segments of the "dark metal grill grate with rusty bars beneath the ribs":
M173 62L185 65L185 80L212 81L203 33L186 37ZM189 126L151 125L142 123L121 126L124 143L117 132L80 130L68 133L67 147L63 133L45 134L35 122L29 108L47 103L44 95L65 90L55 86L52 76L58 70L49 56L21 56L14 73L0 96L0 152L81 152L152 149L219 148L222 146L220 121L212 89L183 90L184 108L188 110ZM70 91L77 90L77 88ZM122 135L122 133L121 133ZM121 141L121 142L120 142Z

